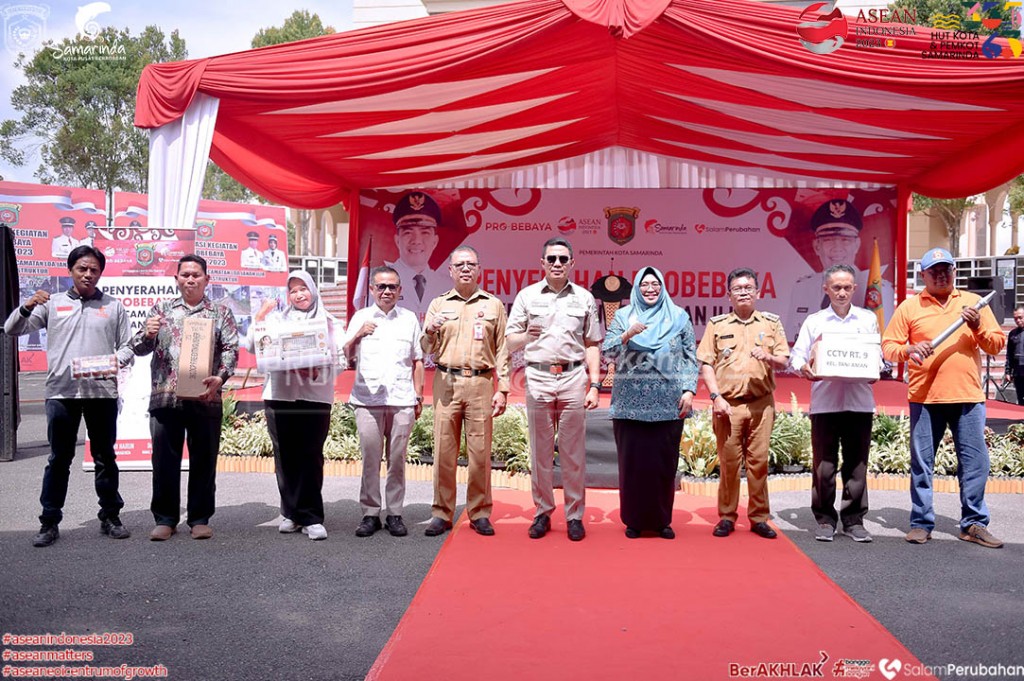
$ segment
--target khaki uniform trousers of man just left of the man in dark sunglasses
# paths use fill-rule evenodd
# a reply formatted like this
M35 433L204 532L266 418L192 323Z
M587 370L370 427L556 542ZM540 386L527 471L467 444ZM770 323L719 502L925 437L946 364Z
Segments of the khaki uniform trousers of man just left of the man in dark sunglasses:
M451 522L455 517L456 469L462 433L466 433L469 485L466 512L470 520L490 516L490 400L494 378L434 373L434 504L431 515Z

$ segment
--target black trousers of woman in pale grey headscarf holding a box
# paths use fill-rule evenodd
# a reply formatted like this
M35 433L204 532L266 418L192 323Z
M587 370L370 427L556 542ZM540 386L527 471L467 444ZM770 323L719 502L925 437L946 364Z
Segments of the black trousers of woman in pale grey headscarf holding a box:
M324 522L324 442L331 405L266 401L266 427L281 493L281 514L299 525Z

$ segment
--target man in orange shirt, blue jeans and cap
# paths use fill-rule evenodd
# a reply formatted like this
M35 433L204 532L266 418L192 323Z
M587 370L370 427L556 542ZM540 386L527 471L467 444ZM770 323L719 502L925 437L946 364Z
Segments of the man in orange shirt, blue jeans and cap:
M921 259L921 271L925 291L896 308L882 337L886 359L909 361L910 531L906 541L924 544L932 538L932 472L948 426L959 464L959 538L998 549L1002 542L988 531L985 505L988 449L981 351L997 354L1007 336L988 307L974 308L979 296L953 286L956 266L948 251L928 251ZM932 339L957 320L965 324L933 347Z

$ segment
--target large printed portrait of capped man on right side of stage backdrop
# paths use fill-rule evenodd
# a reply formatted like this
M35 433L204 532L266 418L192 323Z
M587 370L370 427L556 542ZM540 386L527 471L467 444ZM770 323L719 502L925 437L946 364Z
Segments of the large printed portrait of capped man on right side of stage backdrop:
M870 272L856 265L857 254L861 247L860 230L863 226L860 211L845 199L831 199L814 211L810 225L810 230L814 235L812 248L821 261L821 266L814 273L801 276L793 287L788 313L783 321L783 328L793 334L791 341L796 340L796 334L799 333L808 314L824 309L830 304L828 296L824 293L822 272L833 265L853 267L856 285L853 291L853 304L858 307L864 306L867 276ZM892 318L894 306L893 285L883 279L882 308L885 310L887 321Z

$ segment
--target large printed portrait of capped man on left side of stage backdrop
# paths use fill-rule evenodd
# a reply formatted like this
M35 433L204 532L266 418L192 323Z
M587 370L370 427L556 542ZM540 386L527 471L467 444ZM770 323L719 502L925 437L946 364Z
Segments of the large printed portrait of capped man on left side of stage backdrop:
M416 312L422 322L430 301L452 288L446 270L430 268L430 256L440 241L437 230L443 228L441 209L429 194L410 191L395 204L391 219L398 258L385 264L398 272L399 304Z

